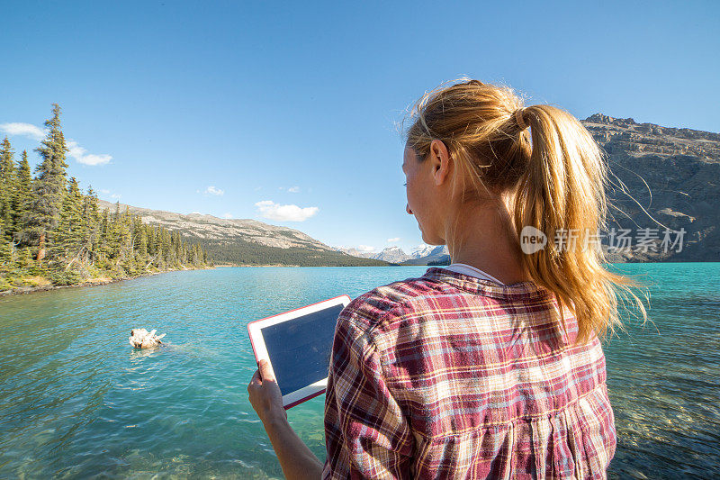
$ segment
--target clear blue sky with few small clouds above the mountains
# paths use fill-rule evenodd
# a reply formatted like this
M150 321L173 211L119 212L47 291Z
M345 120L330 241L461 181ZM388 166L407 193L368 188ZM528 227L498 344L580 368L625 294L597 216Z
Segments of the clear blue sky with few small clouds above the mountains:
M303 4L3 2L0 135L56 102L105 200L410 250L396 124L444 81L720 131L720 2Z

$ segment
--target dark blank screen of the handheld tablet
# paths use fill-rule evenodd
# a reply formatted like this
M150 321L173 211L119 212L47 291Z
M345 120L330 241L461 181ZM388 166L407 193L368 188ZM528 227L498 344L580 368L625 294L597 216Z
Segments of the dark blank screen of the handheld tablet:
M328 377L335 326L343 308L334 305L262 329L283 395Z

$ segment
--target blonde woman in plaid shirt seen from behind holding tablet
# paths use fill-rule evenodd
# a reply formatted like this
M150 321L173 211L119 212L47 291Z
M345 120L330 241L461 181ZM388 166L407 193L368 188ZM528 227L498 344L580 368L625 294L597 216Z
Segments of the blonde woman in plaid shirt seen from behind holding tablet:
M605 477L616 433L600 340L620 324L617 293L645 311L635 282L603 267L608 172L590 133L462 81L416 105L402 169L407 212L454 263L340 313L324 465L259 366L250 401L284 474Z

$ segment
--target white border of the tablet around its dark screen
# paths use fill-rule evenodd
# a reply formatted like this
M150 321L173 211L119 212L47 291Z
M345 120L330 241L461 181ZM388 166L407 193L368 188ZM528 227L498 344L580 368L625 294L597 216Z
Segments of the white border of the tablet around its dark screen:
M250 336L250 343L252 344L255 358L258 362L262 359L266 359L270 363L270 369L273 369L273 362L270 361L270 357L267 354L265 340L263 339L263 335L261 333L263 328L275 325L277 323L287 322L289 320L293 320L293 318L302 317L303 315L307 315L309 313L320 312L320 310L325 310L326 308L334 305L343 305L343 307L347 307L347 304L350 302L351 300L348 295L340 295L336 296L335 298L330 298L329 300L324 300L322 302L312 303L311 305L296 308L289 312L278 313L277 315L256 320L255 322L249 322L247 324L247 333ZM275 370L273 370L273 376L275 376ZM295 404L300 403L306 398L310 399L312 396L323 393L327 386L328 377L326 376L319 382L304 386L300 390L295 390L294 392L290 392L289 394L284 394L283 406L285 409L288 409Z

